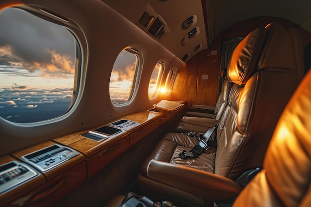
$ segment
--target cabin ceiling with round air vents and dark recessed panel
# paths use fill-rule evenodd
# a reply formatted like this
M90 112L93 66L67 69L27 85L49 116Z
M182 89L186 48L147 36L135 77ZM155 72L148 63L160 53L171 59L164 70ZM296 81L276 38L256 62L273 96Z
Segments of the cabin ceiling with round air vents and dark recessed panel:
M311 32L311 0L132 0L131 4L128 0L102 1L181 60L187 53L190 59L207 49L219 33L233 24L256 16L284 18ZM160 39L153 37L140 23L145 11L155 17L160 16L164 21L165 34ZM183 30L182 22L192 15L196 15L197 21ZM188 31L194 27L199 29L199 34L191 39L187 38ZM181 46L183 38L185 44ZM198 45L201 45L201 49L194 51Z

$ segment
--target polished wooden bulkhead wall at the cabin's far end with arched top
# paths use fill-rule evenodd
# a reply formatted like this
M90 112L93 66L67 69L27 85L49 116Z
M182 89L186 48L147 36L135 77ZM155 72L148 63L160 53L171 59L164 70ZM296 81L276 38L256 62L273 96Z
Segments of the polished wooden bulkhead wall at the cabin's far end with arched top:
M194 104L215 106L219 94L219 69L222 42L232 37L245 37L254 29L279 22L287 28L299 28L288 20L277 17L255 17L234 24L219 34L209 45L209 49L193 56L179 70L172 90L172 99L187 101L188 109ZM301 29L302 35L308 32ZM208 79L202 78L208 75ZM206 76L205 76L206 77Z

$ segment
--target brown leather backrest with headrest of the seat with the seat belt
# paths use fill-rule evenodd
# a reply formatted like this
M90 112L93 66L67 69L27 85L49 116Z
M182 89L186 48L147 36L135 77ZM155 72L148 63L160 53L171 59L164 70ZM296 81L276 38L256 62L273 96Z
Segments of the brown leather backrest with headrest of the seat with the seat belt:
M296 31L272 23L235 48L227 73L234 85L217 131L215 174L234 180L262 167L277 121L304 76L300 40Z

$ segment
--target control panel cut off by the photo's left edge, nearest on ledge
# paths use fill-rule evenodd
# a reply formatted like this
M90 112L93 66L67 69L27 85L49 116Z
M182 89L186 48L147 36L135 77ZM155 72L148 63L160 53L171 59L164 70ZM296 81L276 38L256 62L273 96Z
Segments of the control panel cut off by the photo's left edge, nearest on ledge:
M12 189L37 176L38 173L20 161L11 161L0 166L0 193Z

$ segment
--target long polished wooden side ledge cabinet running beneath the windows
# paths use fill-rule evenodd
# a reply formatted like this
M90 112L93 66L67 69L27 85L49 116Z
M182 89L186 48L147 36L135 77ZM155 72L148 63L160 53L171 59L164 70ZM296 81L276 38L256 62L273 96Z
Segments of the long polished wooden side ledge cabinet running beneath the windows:
M25 162L23 157L42 149L59 145L61 148L78 151L77 156L53 167L52 169L36 170L38 175L14 189L0 194L0 207L49 207L72 191L86 179L103 169L117 157L126 152L131 146L147 137L160 125L176 116L180 110L175 111L141 111L111 120L92 129L65 135L53 140L30 146L0 158L0 165L19 160ZM97 141L83 137L84 133L102 126L108 126L117 120L124 119L138 123L135 127L122 129L121 132ZM120 128L121 129L121 128ZM61 146L63 145L63 146ZM65 146L65 147L64 147ZM41 155L41 154L39 154ZM44 159L45 160L45 159ZM31 162L27 165L31 166ZM35 167L32 167L35 168Z

